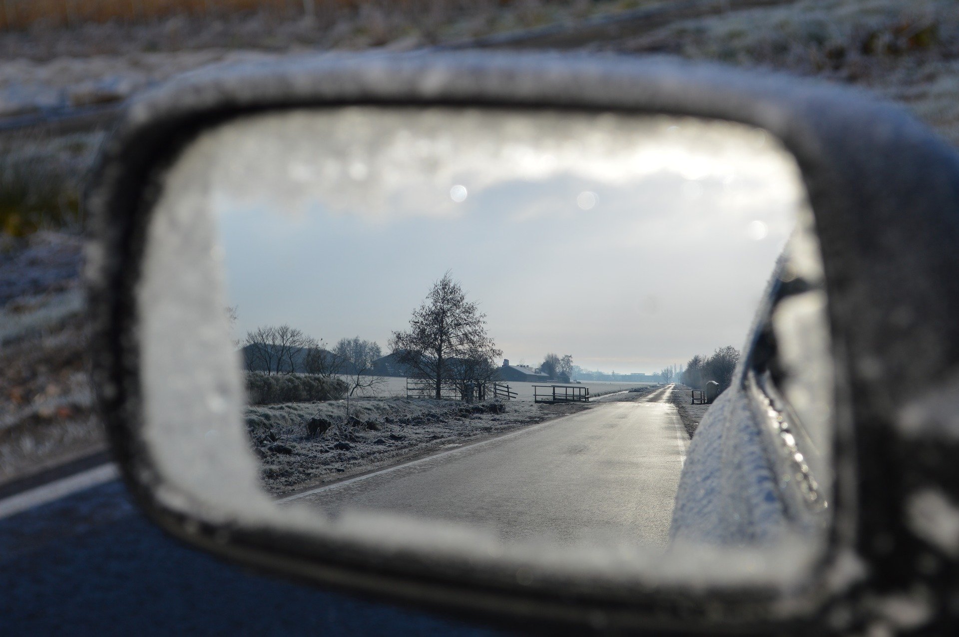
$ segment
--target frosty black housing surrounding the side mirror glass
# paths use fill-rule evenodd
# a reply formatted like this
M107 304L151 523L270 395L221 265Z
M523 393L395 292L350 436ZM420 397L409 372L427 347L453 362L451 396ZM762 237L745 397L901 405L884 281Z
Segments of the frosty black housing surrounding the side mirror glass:
M138 435L134 290L157 175L206 126L267 109L347 104L688 115L759 126L795 155L823 253L837 372L834 524L812 581L788 600L755 589L665 588L627 600L463 580L402 557L386 563L344 551L334 559L315 539L293 534L224 534L154 497L155 472ZM899 107L807 80L663 59L292 58L188 75L129 104L102 149L87 207L93 374L108 435L136 501L194 545L302 580L537 628L791 632L828 618L823 626L845 630L885 621L876 601L917 587L930 616L948 622L955 612L955 556L908 520L910 498L923 489L956 501L959 469L950 461L959 434L955 421L951 429L904 426L902 410L922 401L935 379L945 388L951 375L954 388L959 371L959 155Z

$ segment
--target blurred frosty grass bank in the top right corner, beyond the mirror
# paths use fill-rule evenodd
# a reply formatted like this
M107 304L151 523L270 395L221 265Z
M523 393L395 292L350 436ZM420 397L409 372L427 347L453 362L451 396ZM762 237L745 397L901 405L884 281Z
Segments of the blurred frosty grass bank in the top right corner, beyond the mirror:
M803 0L672 22L602 49L668 53L868 87L959 144L954 0Z

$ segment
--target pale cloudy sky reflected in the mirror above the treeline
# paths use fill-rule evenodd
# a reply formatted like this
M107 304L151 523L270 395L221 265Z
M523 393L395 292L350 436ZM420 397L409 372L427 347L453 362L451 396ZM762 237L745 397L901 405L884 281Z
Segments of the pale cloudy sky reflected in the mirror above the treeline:
M238 336L386 353L452 270L511 362L621 373L740 348L803 197L762 131L665 117L348 108L193 151Z

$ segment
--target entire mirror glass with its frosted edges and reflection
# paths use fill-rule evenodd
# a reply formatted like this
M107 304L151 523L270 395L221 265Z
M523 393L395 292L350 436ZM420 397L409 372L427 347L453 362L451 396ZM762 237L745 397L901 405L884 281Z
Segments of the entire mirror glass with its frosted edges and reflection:
M777 482L768 415L728 410L746 391L732 366L714 407L689 404L678 367L742 349L784 272L813 281L808 220L777 266L806 215L792 157L730 123L357 106L211 128L165 178L138 288L163 492L366 546L790 580L828 518ZM460 330L446 362L417 364L401 337L447 280L487 340ZM818 328L822 310L800 314ZM769 391L808 387L786 374ZM792 453L816 457L827 501L828 416L812 421L821 444ZM765 466L724 463L730 444ZM764 490L739 489L762 471Z

